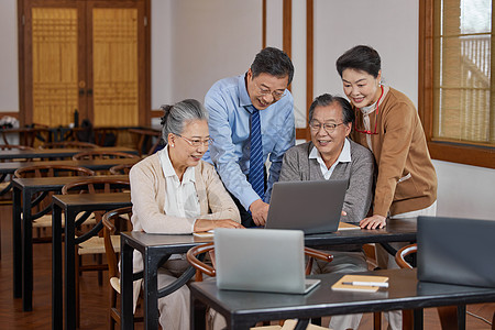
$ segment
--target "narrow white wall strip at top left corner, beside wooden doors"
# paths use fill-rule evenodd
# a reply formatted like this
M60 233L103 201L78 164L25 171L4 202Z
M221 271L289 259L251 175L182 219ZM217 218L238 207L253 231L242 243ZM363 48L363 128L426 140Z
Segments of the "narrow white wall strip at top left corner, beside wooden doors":
M0 4L0 112L19 111L18 6L15 0Z

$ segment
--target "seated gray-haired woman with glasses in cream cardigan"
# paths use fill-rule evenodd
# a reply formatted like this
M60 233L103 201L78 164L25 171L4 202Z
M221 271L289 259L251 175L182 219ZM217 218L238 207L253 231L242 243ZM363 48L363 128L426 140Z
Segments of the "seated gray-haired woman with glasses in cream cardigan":
M134 231L190 234L215 228L242 228L235 204L212 165L201 161L212 142L208 112L197 100L162 108L167 145L130 172ZM189 266L184 254L172 255L158 270L158 287L174 282ZM142 256L134 253L134 268ZM158 300L162 329L189 329L189 289L183 286Z

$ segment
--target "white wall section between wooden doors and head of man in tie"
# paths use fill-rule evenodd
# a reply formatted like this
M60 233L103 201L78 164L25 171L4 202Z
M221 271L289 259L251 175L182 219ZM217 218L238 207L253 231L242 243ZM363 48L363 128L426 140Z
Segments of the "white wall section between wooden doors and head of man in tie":
M166 1L173 13L168 26L172 43L164 41L157 47L173 65L167 73L154 74L168 79L170 94L163 100L153 96L153 107L186 98L202 101L215 81L249 69L262 47L261 1Z

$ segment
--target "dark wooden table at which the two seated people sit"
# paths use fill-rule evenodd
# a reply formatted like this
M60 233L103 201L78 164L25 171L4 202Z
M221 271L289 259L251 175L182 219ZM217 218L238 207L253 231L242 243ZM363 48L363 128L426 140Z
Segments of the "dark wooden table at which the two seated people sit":
M261 230L261 229L253 229ZM329 246L336 244L364 244L386 242L410 242L416 240L416 219L394 220L384 229L345 230L337 233L315 234L305 237L307 246ZM121 306L122 329L134 329L132 314L132 272L133 250L143 254L144 272L144 324L145 329L158 329L157 299L166 296L184 284L195 274L189 270L176 282L165 288L157 288L157 268L172 254L186 253L189 249L212 239L198 239L194 235L165 235L144 232L121 234Z

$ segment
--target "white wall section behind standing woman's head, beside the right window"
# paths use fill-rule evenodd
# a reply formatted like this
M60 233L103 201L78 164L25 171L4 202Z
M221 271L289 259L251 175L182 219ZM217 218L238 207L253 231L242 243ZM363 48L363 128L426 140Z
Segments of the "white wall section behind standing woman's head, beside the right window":
M315 96L340 94L336 61L365 44L382 57L385 84L418 99L418 0L315 1Z

